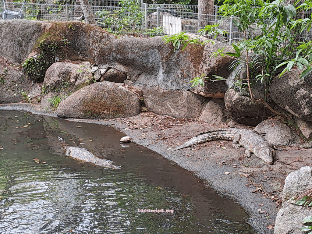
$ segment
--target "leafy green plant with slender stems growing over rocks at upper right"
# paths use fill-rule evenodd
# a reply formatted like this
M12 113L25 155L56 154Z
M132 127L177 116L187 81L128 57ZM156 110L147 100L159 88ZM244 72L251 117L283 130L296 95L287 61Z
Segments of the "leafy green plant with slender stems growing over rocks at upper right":
M229 20L232 17L233 24L242 32L242 40L232 44L234 52L224 53L223 49L219 49L212 56L228 56L234 59L229 69L235 69L240 64L245 64L247 77L242 80L241 87L246 90L254 102L261 102L266 105L273 113L287 119L274 111L267 103L266 98L269 96L271 83L275 75L280 76L285 71L290 71L293 66L297 66L303 70L301 77L308 75L312 71L309 65L312 62L312 48L310 42L295 41L293 35L298 35L303 30L309 31L312 20L309 18L300 19L297 12L312 7L311 0L305 0L300 4L300 0L296 0L294 5L286 4L284 0L276 0L273 2L263 0L224 0L219 8L222 19L218 24L207 25L199 33L205 35L214 35L215 38L221 34L225 35L226 31L218 28L222 20ZM260 7L255 7L260 6ZM294 7L296 6L296 8ZM255 33L257 31L257 33ZM174 43L177 48L180 43L188 43L182 33L168 37L168 41ZM285 46L282 46L285 44ZM299 44L297 46L296 44ZM295 54L293 51L297 51ZM236 70L238 77L241 69ZM210 77L212 80L214 76ZM199 79L204 79L199 78ZM217 77L222 79L222 77ZM223 78L224 79L224 78ZM264 96L259 100L254 99L252 86L257 81L262 82L265 88ZM203 84L203 81L194 79L193 82ZM237 83L236 83L237 84ZM235 84L235 85L236 85ZM236 89L240 87L236 85Z

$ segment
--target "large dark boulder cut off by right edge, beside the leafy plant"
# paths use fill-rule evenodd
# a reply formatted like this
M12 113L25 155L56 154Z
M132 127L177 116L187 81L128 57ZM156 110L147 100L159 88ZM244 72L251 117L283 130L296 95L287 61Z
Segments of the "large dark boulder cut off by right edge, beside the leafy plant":
M290 114L312 121L312 74L300 79L302 70L285 72L273 79L270 96L273 101Z

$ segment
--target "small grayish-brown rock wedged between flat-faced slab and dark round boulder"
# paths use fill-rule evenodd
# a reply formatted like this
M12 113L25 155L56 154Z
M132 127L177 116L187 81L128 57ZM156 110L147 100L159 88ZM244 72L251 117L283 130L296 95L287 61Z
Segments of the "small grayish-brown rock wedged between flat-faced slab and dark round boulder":
M228 118L224 99L213 98L205 106L199 120L208 124L224 124Z

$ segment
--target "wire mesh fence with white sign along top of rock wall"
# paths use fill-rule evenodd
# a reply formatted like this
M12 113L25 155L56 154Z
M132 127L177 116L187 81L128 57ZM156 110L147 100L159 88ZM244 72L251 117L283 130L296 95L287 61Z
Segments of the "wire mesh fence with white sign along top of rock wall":
M197 5L148 4L141 2L137 6L122 7L119 0L90 0L90 6L76 5L74 0L46 0L53 3L0 2L0 9L21 13L24 19L50 21L81 21L105 28L109 32L120 34L162 35L178 32L197 34L204 25L220 22L218 6L214 7L213 15L198 14ZM2 11L2 12L3 12ZM311 12L305 12L310 17ZM22 17L21 17L22 18ZM226 44L242 38L242 32L232 23L223 20L219 28L225 31L216 39ZM252 33L260 35L260 29L254 25ZM297 41L311 41L312 30L294 35Z

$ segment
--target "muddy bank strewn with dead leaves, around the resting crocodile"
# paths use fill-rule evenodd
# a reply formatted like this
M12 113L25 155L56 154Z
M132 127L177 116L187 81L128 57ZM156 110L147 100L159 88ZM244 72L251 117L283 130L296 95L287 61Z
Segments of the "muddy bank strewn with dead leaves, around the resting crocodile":
M56 116L53 111L30 104L2 104L0 110L20 110L36 115ZM311 149L287 147L283 151L277 151L275 163L269 165L255 156L244 158L244 149L233 149L230 141L212 141L175 152L168 150L200 132L225 127L246 128L234 122L214 126L202 123L198 119L172 118L152 112L142 112L125 119L67 120L109 125L130 136L132 142L152 149L192 171L207 181L207 185L220 195L230 197L244 207L250 216L249 223L261 234L273 233L267 226L275 223L286 176L309 165L311 160ZM225 172L229 174L224 174Z

